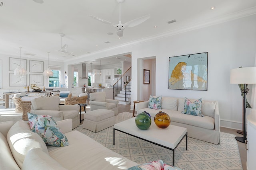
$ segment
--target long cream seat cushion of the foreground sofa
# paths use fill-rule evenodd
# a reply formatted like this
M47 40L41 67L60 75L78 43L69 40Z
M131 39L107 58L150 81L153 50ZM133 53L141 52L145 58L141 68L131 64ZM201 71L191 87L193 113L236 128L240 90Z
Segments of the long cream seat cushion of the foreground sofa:
M69 139L69 146L47 146L49 155L64 168L69 170L120 170L138 165L78 131L71 131L65 135Z

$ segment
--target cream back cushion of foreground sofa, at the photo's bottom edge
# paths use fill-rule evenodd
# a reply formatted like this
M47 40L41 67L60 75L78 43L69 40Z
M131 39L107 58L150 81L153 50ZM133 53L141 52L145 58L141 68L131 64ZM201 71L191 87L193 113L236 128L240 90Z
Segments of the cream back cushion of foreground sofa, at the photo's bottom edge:
M67 170L39 148L32 148L26 154L22 170Z

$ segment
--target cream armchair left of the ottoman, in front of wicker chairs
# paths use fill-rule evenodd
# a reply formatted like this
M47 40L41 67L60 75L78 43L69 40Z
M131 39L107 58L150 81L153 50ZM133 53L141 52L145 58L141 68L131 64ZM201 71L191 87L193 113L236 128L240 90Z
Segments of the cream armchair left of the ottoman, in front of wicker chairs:
M31 113L37 115L50 115L55 121L72 119L72 128L80 125L79 106L78 105L59 105L59 96L48 98L35 98L31 100Z

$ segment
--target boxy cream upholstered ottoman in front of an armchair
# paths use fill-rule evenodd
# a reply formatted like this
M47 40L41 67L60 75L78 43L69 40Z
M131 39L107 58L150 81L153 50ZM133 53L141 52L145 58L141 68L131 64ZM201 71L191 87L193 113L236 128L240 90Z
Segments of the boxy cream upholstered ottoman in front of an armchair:
M107 109L97 109L84 114L83 128L93 132L102 131L115 124L115 112Z

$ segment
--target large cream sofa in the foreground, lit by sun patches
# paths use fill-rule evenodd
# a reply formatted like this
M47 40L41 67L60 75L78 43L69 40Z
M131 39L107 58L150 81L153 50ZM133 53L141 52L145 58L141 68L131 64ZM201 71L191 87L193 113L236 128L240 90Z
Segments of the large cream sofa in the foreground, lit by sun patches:
M46 146L40 135L30 131L28 121L0 123L0 169L116 170L138 165L90 137L72 131L71 119L57 124L68 139L66 147Z

